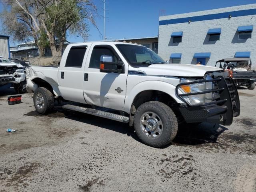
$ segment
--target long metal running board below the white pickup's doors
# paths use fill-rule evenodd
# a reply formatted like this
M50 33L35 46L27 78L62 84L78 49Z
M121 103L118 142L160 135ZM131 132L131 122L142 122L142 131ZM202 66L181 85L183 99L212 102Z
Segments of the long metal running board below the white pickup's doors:
M116 120L116 121L120 121L123 123L129 122L129 118L126 116L117 115L114 113L100 111L100 110L96 110L96 109L92 109L92 108L79 107L79 106L70 105L70 104L63 105L62 108L73 110L73 111L78 111L78 112L82 112L82 113L86 113L86 114L90 114L90 115L95 115L98 117L104 117L107 119Z

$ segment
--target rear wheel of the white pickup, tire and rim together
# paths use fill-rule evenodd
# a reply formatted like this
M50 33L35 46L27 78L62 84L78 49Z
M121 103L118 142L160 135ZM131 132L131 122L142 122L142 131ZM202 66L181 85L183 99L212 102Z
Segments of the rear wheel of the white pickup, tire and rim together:
M40 114L46 114L53 109L54 96L44 87L35 90L33 100L36 111Z

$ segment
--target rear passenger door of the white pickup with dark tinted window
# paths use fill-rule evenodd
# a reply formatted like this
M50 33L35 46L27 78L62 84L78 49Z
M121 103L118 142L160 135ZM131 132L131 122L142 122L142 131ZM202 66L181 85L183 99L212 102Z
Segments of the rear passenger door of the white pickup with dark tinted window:
M70 101L85 103L83 95L84 66L90 44L67 46L58 71L61 96Z

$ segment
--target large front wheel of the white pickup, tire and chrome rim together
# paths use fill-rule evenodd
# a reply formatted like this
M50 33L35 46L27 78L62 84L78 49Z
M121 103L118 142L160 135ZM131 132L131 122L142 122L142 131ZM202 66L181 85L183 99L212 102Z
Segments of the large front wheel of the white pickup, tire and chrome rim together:
M170 144L176 136L178 122L170 107L158 101L150 101L136 110L134 129L146 145L163 147Z

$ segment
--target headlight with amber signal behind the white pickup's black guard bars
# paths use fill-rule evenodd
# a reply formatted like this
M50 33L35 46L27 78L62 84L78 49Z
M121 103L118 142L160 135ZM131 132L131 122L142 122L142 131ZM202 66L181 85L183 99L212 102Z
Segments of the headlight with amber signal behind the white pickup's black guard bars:
M186 83L186 82L192 82L192 81L195 81L195 80L181 79L180 83ZM207 90L212 90L213 83L212 82L202 82L202 83L181 85L178 89L182 92L182 94L198 93L198 92L203 92L203 91L207 91ZM212 92L204 93L204 94L182 96L182 98L184 98L191 105L203 104L203 103L207 103L207 102L212 102Z

